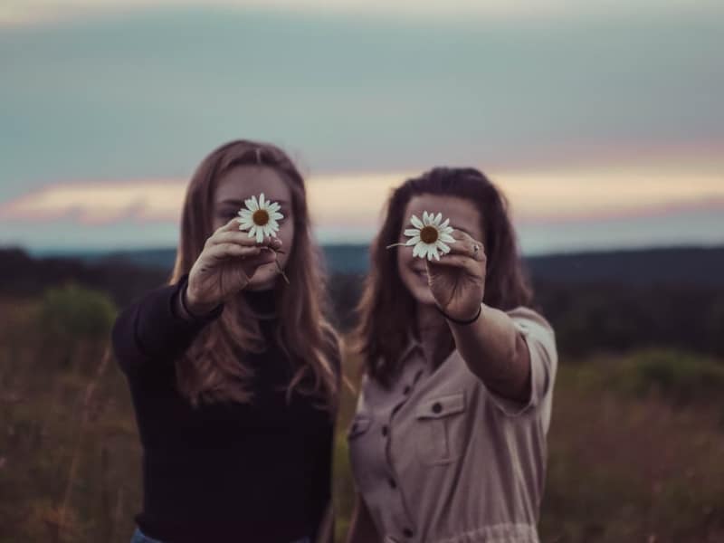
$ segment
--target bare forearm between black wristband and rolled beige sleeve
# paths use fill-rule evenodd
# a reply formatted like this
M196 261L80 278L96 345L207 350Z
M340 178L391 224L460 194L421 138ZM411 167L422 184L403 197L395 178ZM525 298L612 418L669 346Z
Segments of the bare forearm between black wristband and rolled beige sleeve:
M448 325L458 352L485 386L512 400L528 400L528 347L504 311L483 304L480 317L472 324L448 320Z

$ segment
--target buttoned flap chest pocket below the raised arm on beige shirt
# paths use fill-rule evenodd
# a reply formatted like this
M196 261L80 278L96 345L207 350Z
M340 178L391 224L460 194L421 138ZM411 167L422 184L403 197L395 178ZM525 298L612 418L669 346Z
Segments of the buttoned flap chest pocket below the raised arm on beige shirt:
M454 462L464 449L465 394L439 395L417 405L414 441L425 465Z

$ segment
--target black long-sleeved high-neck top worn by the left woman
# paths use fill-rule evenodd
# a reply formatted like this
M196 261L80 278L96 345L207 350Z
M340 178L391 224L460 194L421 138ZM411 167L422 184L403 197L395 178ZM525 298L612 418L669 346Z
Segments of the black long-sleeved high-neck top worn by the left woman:
M149 291L112 330L143 445L143 510L135 519L164 543L290 542L315 537L330 498L333 421L319 399L282 389L291 367L260 320L267 350L245 358L255 371L252 404L190 405L176 390L174 361L224 309L187 321L176 284ZM273 292L244 292L259 310ZM336 361L338 363L338 360Z

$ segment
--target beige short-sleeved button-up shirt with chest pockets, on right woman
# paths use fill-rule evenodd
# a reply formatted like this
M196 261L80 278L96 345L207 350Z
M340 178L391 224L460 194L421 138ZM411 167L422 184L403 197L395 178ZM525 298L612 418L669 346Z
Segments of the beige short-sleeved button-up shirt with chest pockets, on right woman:
M386 543L538 543L556 340L534 310L508 315L530 351L527 405L491 393L457 350L431 372L416 341L393 386L363 379L350 460Z

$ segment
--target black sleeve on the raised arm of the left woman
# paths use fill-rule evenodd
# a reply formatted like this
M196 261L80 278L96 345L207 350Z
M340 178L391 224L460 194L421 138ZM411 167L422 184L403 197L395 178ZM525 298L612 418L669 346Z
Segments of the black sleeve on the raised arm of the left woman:
M205 325L221 315L223 303L193 321L176 315L176 296L186 288L187 282L188 273L176 284L149 291L120 311L113 323L111 342L116 359L127 375L138 374L145 367L172 364Z

